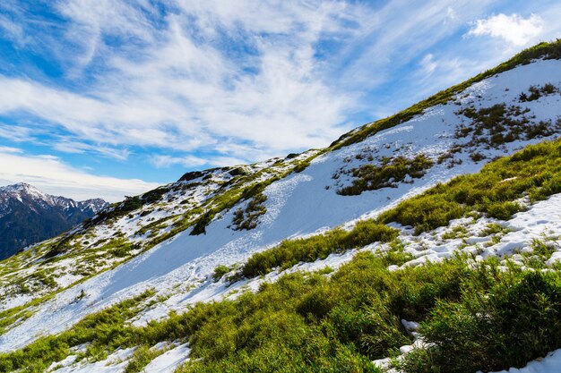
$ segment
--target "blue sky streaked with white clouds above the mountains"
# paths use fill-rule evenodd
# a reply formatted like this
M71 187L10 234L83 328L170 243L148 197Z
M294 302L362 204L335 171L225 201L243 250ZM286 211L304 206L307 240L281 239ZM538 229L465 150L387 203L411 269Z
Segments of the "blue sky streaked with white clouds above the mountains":
M0 185L117 201L321 148L559 19L558 0L2 0Z

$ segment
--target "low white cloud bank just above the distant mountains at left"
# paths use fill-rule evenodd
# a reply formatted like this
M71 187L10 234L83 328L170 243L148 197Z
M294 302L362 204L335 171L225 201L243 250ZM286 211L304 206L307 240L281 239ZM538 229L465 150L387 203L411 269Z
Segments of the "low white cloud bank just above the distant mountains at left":
M159 186L137 179L89 174L66 165L58 157L27 156L13 148L0 148L0 179L4 183L29 182L49 194L76 200L100 197L110 202Z

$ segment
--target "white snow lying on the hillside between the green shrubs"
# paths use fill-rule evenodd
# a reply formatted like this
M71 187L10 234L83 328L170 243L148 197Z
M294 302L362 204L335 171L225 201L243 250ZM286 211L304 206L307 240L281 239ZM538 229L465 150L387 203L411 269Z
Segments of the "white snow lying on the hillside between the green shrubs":
M514 71L504 72L479 82L458 97L462 97L462 105L477 107L488 107L502 102L527 106L532 110L532 114L537 116L536 120L555 120L559 107L558 95L540 97L536 101L523 104L519 103L517 98L520 92L526 91L531 84L543 85L553 82L561 85L560 65L561 62L557 60L548 60L520 66ZM509 89L505 90L506 88ZM256 251L272 247L283 239L323 232L338 225L348 227L358 219L376 216L384 209L393 207L402 199L425 191L437 182L446 182L458 174L479 171L484 163L473 162L464 152L457 155L462 159L461 165L454 165L451 168L444 164L434 165L423 178L413 179L410 183L400 183L397 188L365 191L358 196L341 196L336 193L339 187L350 182L350 176L341 171L348 171L369 162L366 159L358 159L356 157L358 154L371 155L375 159L396 155L413 156L419 153L424 153L433 159L439 157L457 141L453 138L453 131L456 125L465 120L462 115L456 114L461 107L449 104L430 108L407 123L381 131L358 144L316 157L301 173L289 174L280 181L272 182L263 191L267 197L264 203L267 213L260 217L260 223L254 230L229 229L233 211L236 209L232 208L230 211L222 212L219 218L211 222L206 229L206 234L192 236L189 234L190 230L178 233L118 267L57 293L54 299L42 304L40 309L21 325L13 327L0 336L0 352L22 348L39 335L61 332L84 316L140 294L146 289L155 289L156 296L166 296L167 300L146 309L134 318L134 325L142 325L151 319L165 318L170 310L184 310L197 301L211 301L226 296L235 297L238 292L255 290L260 282L275 281L280 276L280 272L273 272L264 279L246 280L231 286L227 286L222 281L214 283L211 274L220 264L241 263ZM492 158L512 153L515 149L541 140L543 139L515 141L506 144L504 149L480 148L478 151ZM254 171L266 165L271 165L271 162L254 165ZM340 177L334 180L333 174L339 174ZM225 176L216 174L217 180L220 177ZM188 196L179 192L169 192L165 195L165 199L178 196L181 196L181 199L177 198L173 202L159 205L159 208L154 208L146 216L140 216L140 211L137 211L133 217L125 216L119 219L114 226L99 226L94 232L96 240L110 238L116 232L123 232L127 237L134 236L140 226L151 221L179 216L186 210L180 203L182 200L193 199L193 204L189 206L196 206L213 192L218 191L219 187L219 183L209 182L188 191ZM557 195L548 201L539 202L528 211L519 213L508 223L508 227L513 232L506 233L500 242L488 247L483 246L490 242L490 238L480 238L478 233L488 223L494 222L492 219L480 219L476 222L472 227L473 232L469 232L465 238L468 247L462 249L461 239L441 239L442 233L450 227L437 230L436 237L427 233L414 237L410 231L401 227L401 239L406 243L406 250L415 257L406 265L419 265L427 260L438 261L449 258L456 250L472 250L475 253L481 251L478 254L481 258L513 253L514 250L529 246L532 239L542 237L544 233L561 232L560 207L561 196ZM175 209L177 211L172 213ZM169 221L170 224L172 221L173 219ZM462 223L464 222L460 220L453 222L453 225ZM162 232L166 232L166 228ZM140 237L137 236L137 239L140 240ZM364 250L378 249L380 245L373 245ZM338 267L352 259L353 255L354 252L333 254L323 261L301 264L289 271L314 270L326 266ZM561 255L554 253L550 260L559 259ZM69 276L59 278L62 284L70 284L74 280ZM76 301L82 290L87 296ZM10 304L6 307L12 306L13 304ZM168 355L164 353L161 356L167 357L161 358L160 363L175 361L174 359L179 359L178 355L185 357L188 349L186 346L184 348L185 351L178 350L177 347L169 353L166 352ZM117 365L109 367L115 368Z

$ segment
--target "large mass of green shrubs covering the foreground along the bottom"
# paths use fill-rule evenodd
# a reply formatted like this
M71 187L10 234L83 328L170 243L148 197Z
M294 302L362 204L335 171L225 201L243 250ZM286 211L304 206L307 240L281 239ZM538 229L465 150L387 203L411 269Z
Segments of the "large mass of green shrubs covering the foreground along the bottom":
M159 353L150 346L188 339L183 373L379 372L371 360L411 343L401 319L421 321L433 346L406 356L407 373L505 369L561 347L559 273L499 269L492 259L473 265L457 257L392 272L384 257L363 252L331 276L294 273L233 301L199 303L143 327L126 324L149 295L0 354L0 371L43 371L82 343L90 343L86 357L94 360L139 346L127 368L138 371Z

